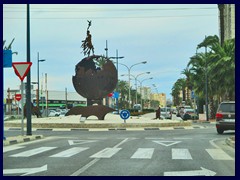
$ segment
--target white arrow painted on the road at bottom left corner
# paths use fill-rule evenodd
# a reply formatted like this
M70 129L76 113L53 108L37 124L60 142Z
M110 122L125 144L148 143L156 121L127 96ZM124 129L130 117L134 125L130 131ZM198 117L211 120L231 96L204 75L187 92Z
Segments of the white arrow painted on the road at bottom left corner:
M42 167L38 167L38 168L18 168L18 169L4 169L3 170L3 174L22 174L21 176L26 176L26 175L30 175L30 174L34 174L34 173L38 173L38 172L42 172L42 171L47 171L47 164L42 166Z

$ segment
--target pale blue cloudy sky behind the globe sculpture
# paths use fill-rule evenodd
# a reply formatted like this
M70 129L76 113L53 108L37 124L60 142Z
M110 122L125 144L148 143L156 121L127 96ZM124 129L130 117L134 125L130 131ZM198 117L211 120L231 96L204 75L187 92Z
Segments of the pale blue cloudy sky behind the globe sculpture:
M138 80L153 77L143 86L157 86L160 93L171 98L171 89L186 68L189 58L205 36L219 35L216 4L33 4L30 5L31 81L37 81L37 53L40 79L47 73L48 90L75 92L72 76L75 65L84 58L81 41L86 37L87 20L96 55L124 56L120 63L134 66L131 74ZM26 61L26 5L3 5L3 39L6 44L15 38L13 62ZM199 50L201 51L201 49ZM203 50L202 50L203 51ZM127 68L119 65L119 78L128 80ZM4 68L4 89L18 89L19 78L13 68ZM26 80L25 80L26 81ZM131 82L134 85L134 82ZM45 89L45 87L43 87ZM134 86L135 88L135 86Z

